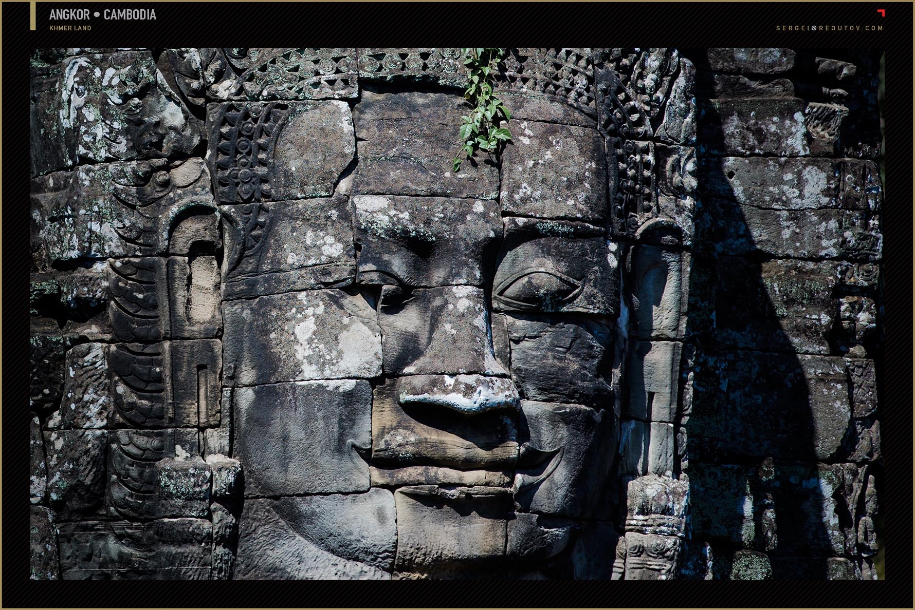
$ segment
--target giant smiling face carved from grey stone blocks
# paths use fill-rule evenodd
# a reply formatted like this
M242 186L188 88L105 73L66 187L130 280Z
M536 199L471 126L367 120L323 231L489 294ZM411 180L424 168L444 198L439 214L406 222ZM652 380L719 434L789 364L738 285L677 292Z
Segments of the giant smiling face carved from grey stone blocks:
M212 106L208 129L229 133L246 103ZM285 112L336 124L340 106ZM604 144L593 128L513 123L523 137L506 151L500 193L482 161L436 174L460 112L448 94L365 90L340 123L353 125L358 152L345 138L315 144L309 123L285 120L264 160L268 195L216 188L223 401L247 497L241 577L275 577L281 554L324 552L337 558L329 572L283 570L523 573L567 561L583 530L613 518L619 252ZM403 120L412 115L425 122ZM269 158L287 139L314 155ZM233 163L221 150L211 173ZM335 187L285 172L312 156L340 170L355 158L354 174ZM290 180L318 198L274 196ZM366 519L371 540L358 543L365 532L350 521ZM269 542L279 531L299 541L281 553Z

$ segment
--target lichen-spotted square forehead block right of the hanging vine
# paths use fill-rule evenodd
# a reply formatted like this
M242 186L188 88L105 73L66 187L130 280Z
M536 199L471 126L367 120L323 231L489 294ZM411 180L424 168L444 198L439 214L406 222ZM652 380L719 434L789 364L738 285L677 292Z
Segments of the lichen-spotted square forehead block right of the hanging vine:
M607 219L607 163L596 130L534 121L509 122L501 206L511 216Z

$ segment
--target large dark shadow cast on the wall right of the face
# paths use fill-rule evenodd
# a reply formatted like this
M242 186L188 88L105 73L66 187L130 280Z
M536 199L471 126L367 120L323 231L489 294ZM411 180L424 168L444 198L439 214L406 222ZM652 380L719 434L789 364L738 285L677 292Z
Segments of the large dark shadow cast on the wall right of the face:
M697 59L697 67L705 63ZM767 114L773 101L746 102ZM682 426L690 480L684 576L854 577L850 562L837 566L828 558L854 549L852 542L846 550L845 540L853 518L834 520L848 514L845 482L857 471L818 465L831 461L845 435L844 428L829 429L834 421L824 412L837 392L845 400L845 367L842 359L798 353L831 353L805 347L816 332L823 343L823 326L804 319L821 304L820 311L831 311L831 286L817 283L816 262L777 260L758 247L753 235L760 225L780 232L790 217L738 205L727 155L740 154L728 149L725 131L734 127L707 99L697 95L697 103L700 192L686 330L695 348L694 393ZM841 428L842 417L834 419Z

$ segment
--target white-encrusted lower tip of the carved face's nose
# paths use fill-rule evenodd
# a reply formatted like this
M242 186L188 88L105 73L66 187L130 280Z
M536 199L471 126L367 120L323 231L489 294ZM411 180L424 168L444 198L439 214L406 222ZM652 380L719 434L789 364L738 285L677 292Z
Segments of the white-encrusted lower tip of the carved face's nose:
M519 411L521 399L511 379L483 375L415 375L400 380L401 405L435 404L464 415Z

